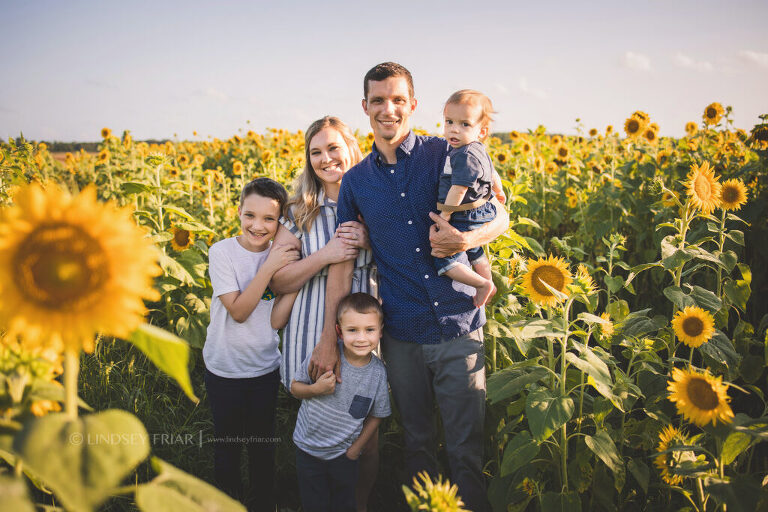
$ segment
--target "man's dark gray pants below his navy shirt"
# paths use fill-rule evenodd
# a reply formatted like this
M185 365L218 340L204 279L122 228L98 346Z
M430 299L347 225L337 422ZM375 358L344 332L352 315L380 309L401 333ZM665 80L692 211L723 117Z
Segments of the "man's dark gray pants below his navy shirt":
M436 345L381 340L387 377L405 430L405 460L410 476L437 476L434 399L445 429L451 481L466 508L489 510L483 464L485 349L483 330ZM410 478L408 483L410 484Z

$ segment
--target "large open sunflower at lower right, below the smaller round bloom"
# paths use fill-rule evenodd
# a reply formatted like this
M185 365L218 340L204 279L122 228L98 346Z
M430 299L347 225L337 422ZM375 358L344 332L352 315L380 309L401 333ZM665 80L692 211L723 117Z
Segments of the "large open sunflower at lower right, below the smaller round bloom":
M709 372L698 372L692 368L672 369L672 382L667 390L669 399L675 403L677 412L686 420L703 427L708 423L717 425L733 421L733 411L728 405L728 384L722 377L713 377Z

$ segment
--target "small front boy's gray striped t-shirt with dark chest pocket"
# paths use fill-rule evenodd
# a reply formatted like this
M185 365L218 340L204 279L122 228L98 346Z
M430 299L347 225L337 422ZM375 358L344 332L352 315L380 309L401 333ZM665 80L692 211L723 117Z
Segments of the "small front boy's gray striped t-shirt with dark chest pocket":
M368 415L384 418L391 414L387 371L381 359L371 354L365 366L352 366L341 352L341 378L332 395L307 398L301 402L293 442L319 459L330 460L346 453L363 430ZM297 382L311 384L307 366L302 363Z

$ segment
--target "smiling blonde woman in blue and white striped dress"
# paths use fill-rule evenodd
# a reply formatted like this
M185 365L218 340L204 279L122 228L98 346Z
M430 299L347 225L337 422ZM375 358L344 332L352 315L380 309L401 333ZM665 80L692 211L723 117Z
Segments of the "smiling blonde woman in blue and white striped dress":
M283 333L281 380L290 390L301 363L320 339L325 313L328 266L355 260L352 292L378 297L377 273L368 246L368 232L358 222L336 231L336 201L344 173L362 159L357 139L338 118L326 116L312 123L305 135L304 171L297 180L275 244L301 249L302 259L276 272L270 288L278 294L298 291L291 318ZM365 510L378 467L378 435L360 457L358 510Z

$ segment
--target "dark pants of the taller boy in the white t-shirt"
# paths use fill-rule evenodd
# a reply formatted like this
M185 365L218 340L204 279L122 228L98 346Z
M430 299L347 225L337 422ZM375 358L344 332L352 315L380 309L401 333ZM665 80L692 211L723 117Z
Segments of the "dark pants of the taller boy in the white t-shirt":
M248 379L227 379L205 370L205 388L216 436L213 444L216 486L242 500L249 511L275 509L273 438L279 383L279 370ZM248 450L246 495L243 495L240 474L243 446Z

